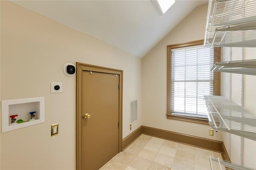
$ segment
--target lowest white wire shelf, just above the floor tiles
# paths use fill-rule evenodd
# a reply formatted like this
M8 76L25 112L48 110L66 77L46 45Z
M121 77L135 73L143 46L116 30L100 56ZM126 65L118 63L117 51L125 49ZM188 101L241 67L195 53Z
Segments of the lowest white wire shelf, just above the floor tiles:
M234 164L219 158L213 158L210 156L210 165L212 170L254 170L246 166Z

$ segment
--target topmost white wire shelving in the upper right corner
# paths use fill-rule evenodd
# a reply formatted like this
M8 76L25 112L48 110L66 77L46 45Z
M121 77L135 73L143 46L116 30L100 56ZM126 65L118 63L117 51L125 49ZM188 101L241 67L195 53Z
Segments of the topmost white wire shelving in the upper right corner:
M205 47L256 47L255 0L209 0Z

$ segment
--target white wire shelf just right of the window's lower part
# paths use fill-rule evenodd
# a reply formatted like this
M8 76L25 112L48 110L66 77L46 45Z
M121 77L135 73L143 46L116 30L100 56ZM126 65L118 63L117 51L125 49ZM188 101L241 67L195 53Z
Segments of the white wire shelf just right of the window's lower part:
M256 141L256 114L223 96L204 96L209 125Z

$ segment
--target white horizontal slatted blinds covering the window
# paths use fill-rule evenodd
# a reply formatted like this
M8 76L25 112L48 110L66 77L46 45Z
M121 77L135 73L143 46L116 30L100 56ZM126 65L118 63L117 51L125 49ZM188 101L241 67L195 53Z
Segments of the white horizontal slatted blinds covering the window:
M204 95L213 95L214 49L172 49L171 111L174 115L207 118Z

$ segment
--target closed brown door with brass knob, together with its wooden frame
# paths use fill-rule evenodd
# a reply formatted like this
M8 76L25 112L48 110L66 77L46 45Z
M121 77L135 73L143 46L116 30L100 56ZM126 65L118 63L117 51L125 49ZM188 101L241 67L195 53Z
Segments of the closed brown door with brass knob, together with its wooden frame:
M80 75L77 134L80 165L77 169L96 170L115 156L120 139L120 71L84 67ZM115 74L119 73L119 74ZM78 74L78 73L77 73ZM79 88L78 88L79 90ZM79 123L78 123L79 124ZM79 151L78 151L79 152ZM79 162L79 161L77 161Z

